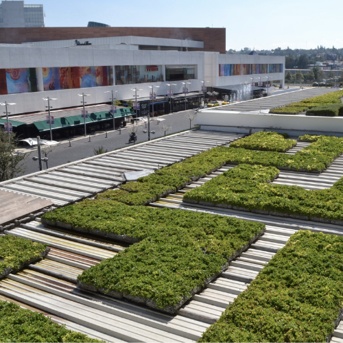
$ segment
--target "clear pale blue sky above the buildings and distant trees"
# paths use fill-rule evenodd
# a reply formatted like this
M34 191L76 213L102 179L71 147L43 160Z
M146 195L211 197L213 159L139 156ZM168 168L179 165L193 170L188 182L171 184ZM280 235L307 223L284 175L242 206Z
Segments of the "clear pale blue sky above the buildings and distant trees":
M45 26L226 27L226 49L342 48L342 0L26 0ZM77 38L77 37L75 37Z

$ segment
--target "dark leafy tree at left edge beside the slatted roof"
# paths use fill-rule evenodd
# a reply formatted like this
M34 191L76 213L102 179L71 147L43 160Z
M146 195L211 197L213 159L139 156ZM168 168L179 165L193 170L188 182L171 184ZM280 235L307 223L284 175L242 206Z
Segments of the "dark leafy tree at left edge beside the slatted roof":
M0 182L21 176L26 167L23 162L29 156L21 152L16 152L16 135L11 134L10 143L8 143L8 133L0 128Z

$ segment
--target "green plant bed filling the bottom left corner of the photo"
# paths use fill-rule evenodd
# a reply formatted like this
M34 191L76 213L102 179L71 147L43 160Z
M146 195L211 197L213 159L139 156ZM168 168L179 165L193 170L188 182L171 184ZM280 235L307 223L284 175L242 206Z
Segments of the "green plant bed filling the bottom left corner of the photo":
M104 342L6 301L0 301L0 318L0 342Z

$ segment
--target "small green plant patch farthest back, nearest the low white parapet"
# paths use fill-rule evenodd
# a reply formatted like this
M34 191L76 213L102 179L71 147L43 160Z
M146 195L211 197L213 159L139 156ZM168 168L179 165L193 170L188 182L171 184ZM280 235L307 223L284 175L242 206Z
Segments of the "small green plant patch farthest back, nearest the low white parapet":
M243 147L250 150L266 150L285 152L296 145L294 139L285 139L287 134L279 134L277 132L259 131L251 134L243 139L238 139L230 143L230 147Z

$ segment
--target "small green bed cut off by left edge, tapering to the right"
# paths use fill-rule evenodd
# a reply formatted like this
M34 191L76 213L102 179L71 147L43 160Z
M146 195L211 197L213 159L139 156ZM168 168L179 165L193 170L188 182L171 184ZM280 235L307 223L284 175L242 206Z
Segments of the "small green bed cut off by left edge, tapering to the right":
M0 236L0 279L23 269L50 251L47 244L40 244L29 239L14 237L12 235Z

